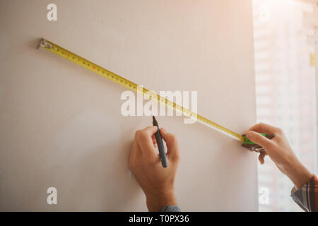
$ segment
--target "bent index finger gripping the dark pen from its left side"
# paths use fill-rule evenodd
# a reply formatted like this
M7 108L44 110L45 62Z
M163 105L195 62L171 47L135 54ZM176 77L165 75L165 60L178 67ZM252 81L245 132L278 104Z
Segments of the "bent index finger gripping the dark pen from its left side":
M141 153L155 156L155 148L151 136L158 130L157 126L148 126L146 129L136 132L136 140L139 143Z

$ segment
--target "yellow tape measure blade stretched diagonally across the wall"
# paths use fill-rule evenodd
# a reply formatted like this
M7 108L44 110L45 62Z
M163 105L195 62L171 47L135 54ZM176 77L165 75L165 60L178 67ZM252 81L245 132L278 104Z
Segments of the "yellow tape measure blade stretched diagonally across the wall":
M153 99L167 107L172 107L176 111L182 112L184 116L191 117L192 119L196 119L201 124L204 124L212 129L215 129L216 131L219 131L220 133L224 133L225 135L230 136L237 141L242 141L242 142L245 141L245 138L241 136L240 134L230 131L230 129L226 129L225 127L220 126L219 124L216 124L215 122L209 119L206 119L205 117L202 117L201 115L196 114L195 112L192 112L189 109L186 109L180 105L177 105L175 102L167 100L167 98L161 97L160 95L153 93L152 91L147 90L146 88L140 88L140 87L138 88L138 85L136 83L133 83L129 81L128 79L113 73L112 71L108 71L107 69L104 69L103 67L98 66L97 64L94 64L93 62L88 61L87 59L84 59L83 57L79 57L78 55L73 54L69 50L59 47L57 44L54 44L53 42L49 42L47 40L42 39L39 44L39 48L40 47L47 49L50 52L53 52L54 54L57 54L61 57L64 57L65 59L68 59L69 61L72 61L75 64L83 66L84 68L90 71L98 73L100 76L103 76L119 85L122 85L125 88L128 88L129 90L133 90L136 93L141 93L142 95L148 97L148 99Z

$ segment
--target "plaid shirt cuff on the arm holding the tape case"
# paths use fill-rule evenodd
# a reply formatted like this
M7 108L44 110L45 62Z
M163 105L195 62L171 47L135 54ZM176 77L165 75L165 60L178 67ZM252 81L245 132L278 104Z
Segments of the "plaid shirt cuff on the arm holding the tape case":
M290 195L295 203L306 212L318 211L318 179L314 175L309 182L295 191L295 187Z

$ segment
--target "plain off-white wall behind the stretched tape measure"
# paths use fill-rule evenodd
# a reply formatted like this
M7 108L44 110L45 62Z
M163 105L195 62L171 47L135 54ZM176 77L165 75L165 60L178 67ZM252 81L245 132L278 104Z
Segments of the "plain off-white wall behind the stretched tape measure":
M49 3L0 1L0 210L146 210L127 160L151 117L123 117L124 88L37 50L40 37L149 89L197 90L199 113L237 133L256 121L250 0L57 0L57 21ZM256 153L158 121L179 140L182 210L257 210Z

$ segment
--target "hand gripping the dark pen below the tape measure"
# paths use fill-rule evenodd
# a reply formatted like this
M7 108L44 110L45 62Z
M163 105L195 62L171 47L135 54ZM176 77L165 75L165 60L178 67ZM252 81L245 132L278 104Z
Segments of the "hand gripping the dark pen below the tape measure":
M148 210L158 211L164 206L175 206L175 175L179 165L179 147L174 134L160 129L167 145L167 167L158 156L155 133L157 126L136 131L129 156L129 167L146 194Z

